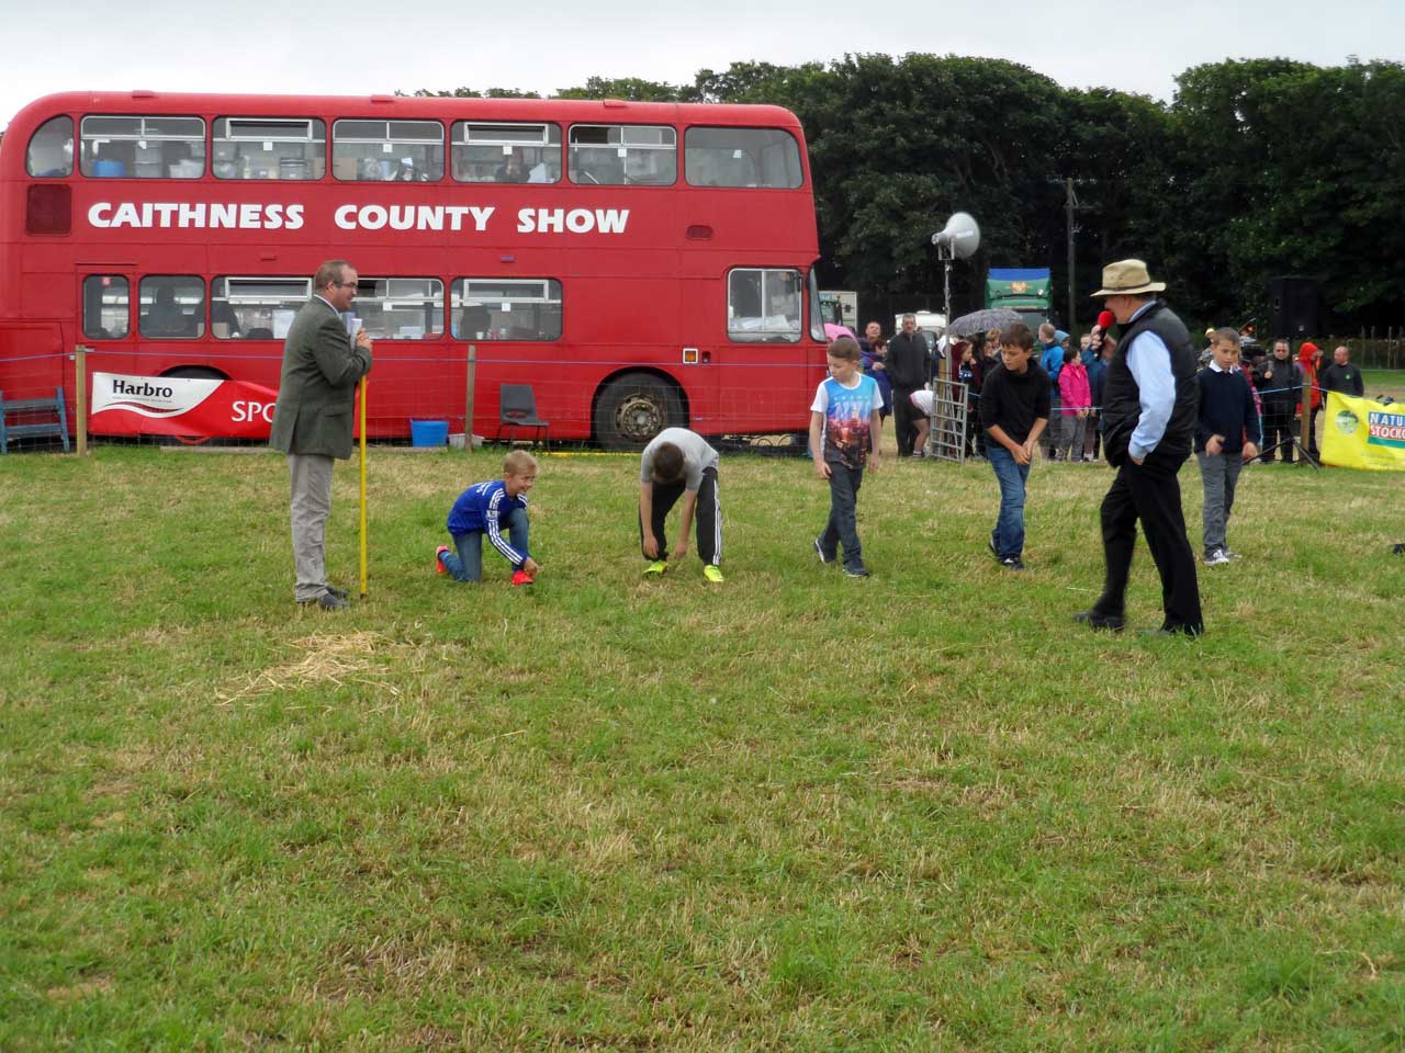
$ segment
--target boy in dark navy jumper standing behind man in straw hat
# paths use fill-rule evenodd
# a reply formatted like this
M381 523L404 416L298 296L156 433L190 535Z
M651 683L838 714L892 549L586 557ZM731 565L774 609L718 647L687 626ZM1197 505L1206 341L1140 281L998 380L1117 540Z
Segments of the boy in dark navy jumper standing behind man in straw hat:
M1205 566L1228 563L1234 553L1225 542L1225 524L1234 508L1235 484L1245 458L1259 455L1263 432L1253 390L1239 369L1239 334L1217 329L1210 365L1196 375L1200 416L1196 420L1196 461L1205 491L1203 514Z

